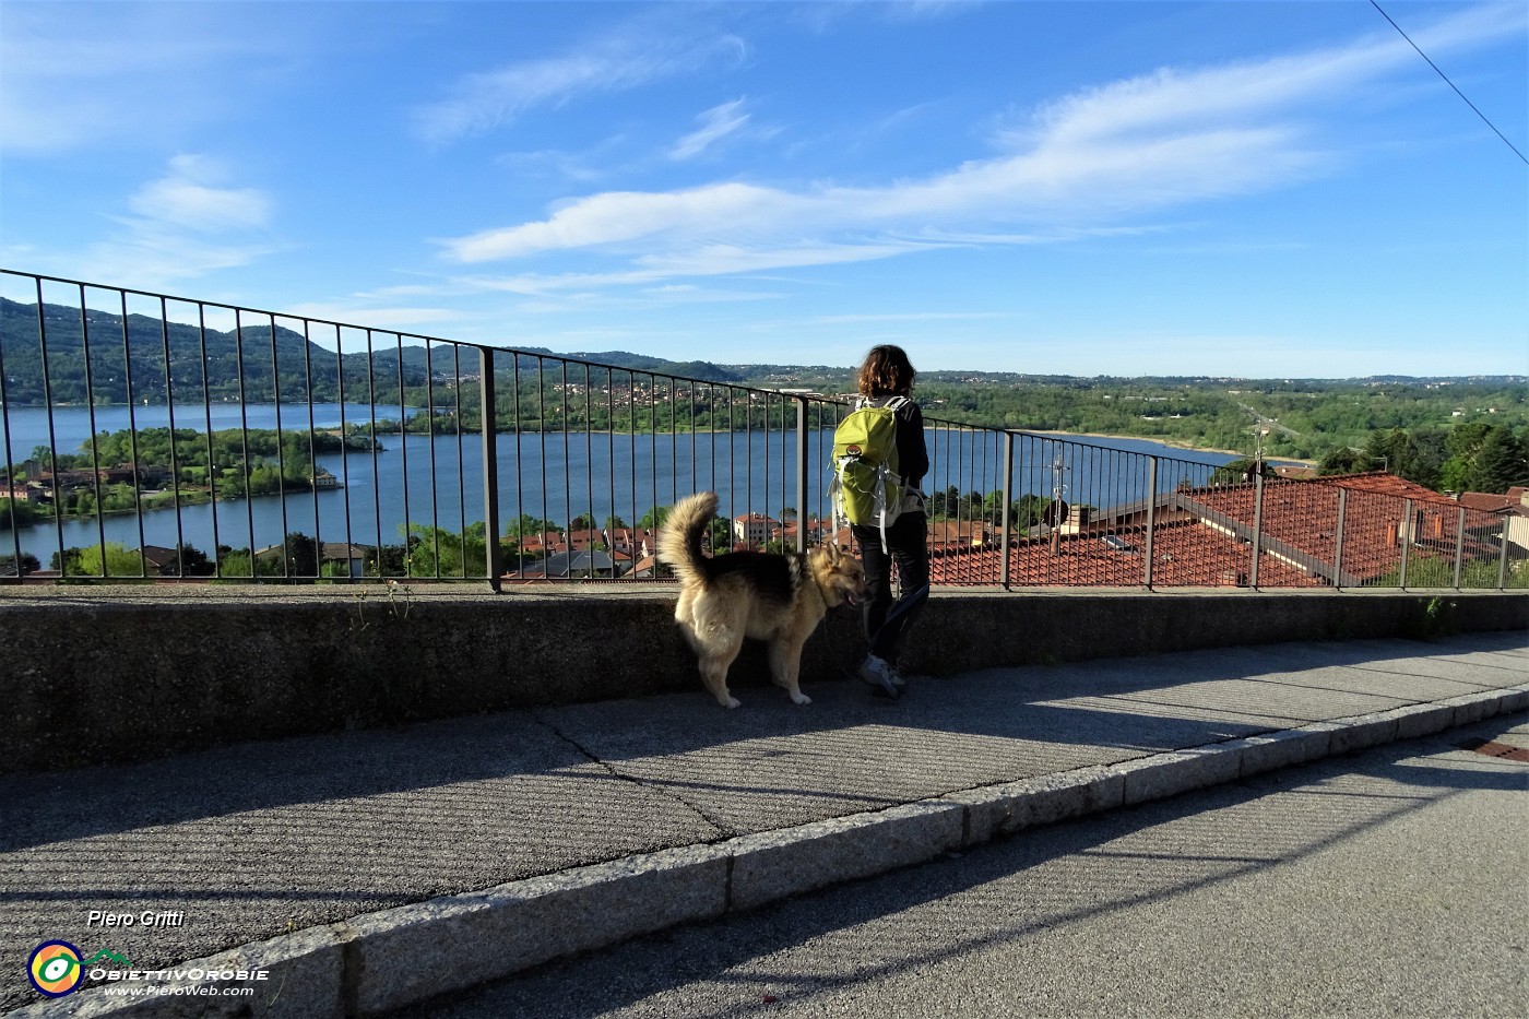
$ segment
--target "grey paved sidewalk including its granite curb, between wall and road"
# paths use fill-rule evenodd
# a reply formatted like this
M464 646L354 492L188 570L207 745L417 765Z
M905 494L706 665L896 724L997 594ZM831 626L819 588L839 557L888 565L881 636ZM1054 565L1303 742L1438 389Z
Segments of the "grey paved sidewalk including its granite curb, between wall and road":
M850 681L809 684L804 708L746 687L737 711L697 679L12 776L0 1008L376 1014L1027 825L1523 711L1526 644L1520 630L994 669L916 679L896 704ZM24 976L44 941L138 972L203 961L269 979L249 998L87 987L49 1002ZM133 987L148 984L190 985Z

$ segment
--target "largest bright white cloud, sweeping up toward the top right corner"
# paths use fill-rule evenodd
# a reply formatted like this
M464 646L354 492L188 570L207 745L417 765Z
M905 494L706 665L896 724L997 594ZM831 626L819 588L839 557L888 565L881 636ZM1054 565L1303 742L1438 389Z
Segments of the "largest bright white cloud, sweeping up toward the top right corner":
M1524 15L1471 8L1420 29L1436 52L1521 34ZM1416 54L1376 34L1349 46L1212 67L1162 69L1083 90L994 133L997 155L879 187L790 190L728 181L677 191L605 191L541 220L442 242L462 263L579 251L625 269L502 280L526 292L683 275L760 272L924 251L942 243L1041 243L1168 207L1254 194L1350 158L1324 118ZM709 112L703 144L737 130Z

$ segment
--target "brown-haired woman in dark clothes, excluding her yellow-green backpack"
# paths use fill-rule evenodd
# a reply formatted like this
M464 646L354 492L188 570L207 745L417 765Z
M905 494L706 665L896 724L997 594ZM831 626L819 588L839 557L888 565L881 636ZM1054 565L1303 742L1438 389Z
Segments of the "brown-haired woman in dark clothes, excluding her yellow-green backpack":
M904 679L898 661L908 630L930 597L930 523L924 513L920 483L930 470L924 444L924 413L913 402L913 364L902 347L872 347L856 376L859 407L896 405L898 473L902 477L902 505L894 520L882 529L875 523L850 525L865 565L868 597L864 603L865 640L870 649L861 663L859 678L878 696L896 699ZM891 597L891 565L898 565L898 598Z

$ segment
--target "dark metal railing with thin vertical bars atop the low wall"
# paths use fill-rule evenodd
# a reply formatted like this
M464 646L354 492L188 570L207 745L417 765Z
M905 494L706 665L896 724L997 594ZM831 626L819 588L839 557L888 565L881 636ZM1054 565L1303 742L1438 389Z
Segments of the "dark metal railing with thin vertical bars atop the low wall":
M844 398L14 271L0 301L0 580L624 583L697 490L717 551L849 540ZM1529 580L1529 519L1384 479L925 424L936 584Z

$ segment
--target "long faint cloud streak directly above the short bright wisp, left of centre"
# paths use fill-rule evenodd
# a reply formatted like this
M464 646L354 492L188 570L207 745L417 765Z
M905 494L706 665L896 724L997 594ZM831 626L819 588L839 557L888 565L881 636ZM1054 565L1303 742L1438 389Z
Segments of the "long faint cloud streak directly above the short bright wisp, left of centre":
M682 31L673 21L633 21L576 52L465 75L448 98L413 112L414 130L431 144L446 144L500 127L531 109L636 89L713 61L737 60L743 52L743 41L731 34Z

